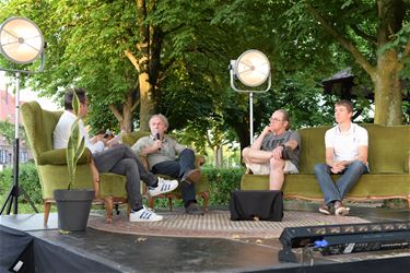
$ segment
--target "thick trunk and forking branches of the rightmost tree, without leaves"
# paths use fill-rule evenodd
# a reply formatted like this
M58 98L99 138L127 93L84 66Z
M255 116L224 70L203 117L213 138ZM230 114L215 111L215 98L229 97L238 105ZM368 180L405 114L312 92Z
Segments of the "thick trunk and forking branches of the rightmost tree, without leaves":
M402 28L405 2L402 0L377 0L377 67L372 66L355 45L339 34L333 25L312 5L306 3L306 8L323 24L325 31L338 40L371 76L375 87L374 123L401 124L402 86L399 73L402 63L399 62L397 51L394 49L383 51L383 48Z

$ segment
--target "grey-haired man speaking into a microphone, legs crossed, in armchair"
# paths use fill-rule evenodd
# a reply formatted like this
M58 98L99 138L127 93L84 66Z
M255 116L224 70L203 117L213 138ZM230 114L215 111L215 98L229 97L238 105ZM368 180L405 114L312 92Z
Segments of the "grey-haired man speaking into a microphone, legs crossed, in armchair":
M203 212L197 204L194 185L201 180L201 171L195 168L194 151L165 135L168 129L168 119L165 116L154 115L149 123L151 135L139 139L131 149L138 155L147 156L149 168L153 174L180 179L186 213L202 215Z

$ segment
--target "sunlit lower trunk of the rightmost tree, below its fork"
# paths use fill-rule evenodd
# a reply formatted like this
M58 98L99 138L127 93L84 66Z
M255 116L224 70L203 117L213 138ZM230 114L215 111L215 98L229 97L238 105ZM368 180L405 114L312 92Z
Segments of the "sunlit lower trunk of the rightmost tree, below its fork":
M395 50L388 50L378 56L377 72L373 82L375 86L374 123L401 124L402 86L399 79L398 56Z

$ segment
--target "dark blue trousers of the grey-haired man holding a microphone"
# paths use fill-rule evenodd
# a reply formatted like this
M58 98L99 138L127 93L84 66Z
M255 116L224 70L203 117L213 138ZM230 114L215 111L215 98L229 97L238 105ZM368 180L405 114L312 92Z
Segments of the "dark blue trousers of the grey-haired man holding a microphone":
M195 169L195 153L190 149L185 149L177 161L161 162L152 166L153 174L167 175L176 179L181 179L184 175ZM195 185L189 182L181 182L179 187L183 192L184 205L187 206L189 202L197 202Z

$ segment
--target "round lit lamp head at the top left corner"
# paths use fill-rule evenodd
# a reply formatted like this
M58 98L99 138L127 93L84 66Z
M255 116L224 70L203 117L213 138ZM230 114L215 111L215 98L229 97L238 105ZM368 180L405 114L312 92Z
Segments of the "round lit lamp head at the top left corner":
M10 17L0 26L0 52L10 61L26 64L44 50L44 37L37 25L25 17Z

